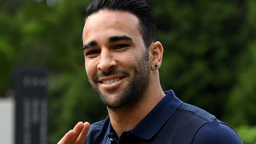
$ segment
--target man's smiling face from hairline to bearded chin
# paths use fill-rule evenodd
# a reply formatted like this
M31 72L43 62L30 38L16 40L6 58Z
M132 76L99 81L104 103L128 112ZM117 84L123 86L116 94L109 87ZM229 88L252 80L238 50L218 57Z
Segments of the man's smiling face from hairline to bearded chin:
M149 55L135 15L108 10L92 14L82 40L89 82L108 108L133 105L143 98Z

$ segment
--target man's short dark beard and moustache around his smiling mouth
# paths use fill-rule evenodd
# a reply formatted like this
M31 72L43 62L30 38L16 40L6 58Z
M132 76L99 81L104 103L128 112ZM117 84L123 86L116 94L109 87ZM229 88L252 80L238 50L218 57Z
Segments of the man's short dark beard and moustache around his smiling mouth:
M93 79L94 83L92 83L89 77L88 79L94 91L100 96L100 100L103 104L111 110L117 110L133 107L145 97L145 91L149 85L149 71L149 55L148 50L146 50L144 56L142 56L136 65L133 66L132 73L113 69L110 72L102 72L100 75L95 76ZM108 97L108 95L104 95L97 85L95 85L100 76L110 75L124 75L130 77L130 81L124 90L114 95L114 102L111 102L111 98Z

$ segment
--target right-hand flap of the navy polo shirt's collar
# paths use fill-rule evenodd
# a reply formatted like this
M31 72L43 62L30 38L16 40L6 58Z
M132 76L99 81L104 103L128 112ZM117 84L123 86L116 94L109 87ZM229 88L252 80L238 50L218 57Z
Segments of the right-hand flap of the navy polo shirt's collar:
M167 120L174 114L175 110L183 103L178 99L174 91L165 92L165 97L130 133L141 139L151 139Z

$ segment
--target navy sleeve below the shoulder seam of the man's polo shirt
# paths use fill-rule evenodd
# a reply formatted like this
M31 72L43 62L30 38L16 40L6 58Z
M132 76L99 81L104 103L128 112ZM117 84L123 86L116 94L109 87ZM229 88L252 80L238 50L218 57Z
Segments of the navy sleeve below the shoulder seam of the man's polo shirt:
M204 124L196 133L193 144L240 144L242 143L238 134L228 124L211 121Z

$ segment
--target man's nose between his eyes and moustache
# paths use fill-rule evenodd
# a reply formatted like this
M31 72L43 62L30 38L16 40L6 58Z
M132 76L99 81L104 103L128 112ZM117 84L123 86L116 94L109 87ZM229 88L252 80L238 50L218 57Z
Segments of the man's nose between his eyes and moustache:
M100 55L100 62L98 63L97 68L101 71L109 72L117 65L113 53L111 53L111 50L102 49Z

